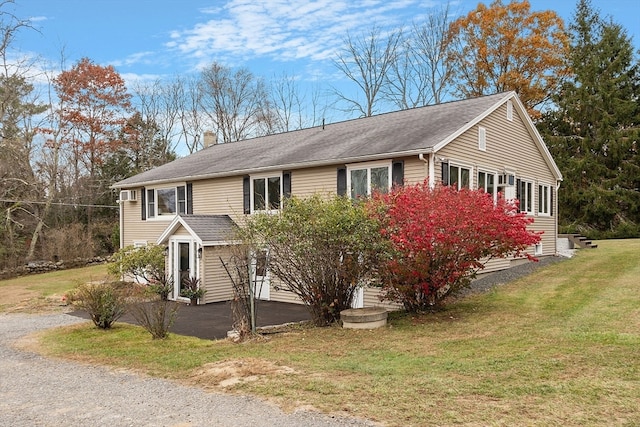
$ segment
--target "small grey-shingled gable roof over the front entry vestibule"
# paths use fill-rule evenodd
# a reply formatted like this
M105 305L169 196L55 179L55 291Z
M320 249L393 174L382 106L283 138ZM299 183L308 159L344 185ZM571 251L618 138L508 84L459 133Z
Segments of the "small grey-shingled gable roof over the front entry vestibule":
M201 246L232 242L237 228L229 215L176 215L156 243L166 242L180 226L184 227Z

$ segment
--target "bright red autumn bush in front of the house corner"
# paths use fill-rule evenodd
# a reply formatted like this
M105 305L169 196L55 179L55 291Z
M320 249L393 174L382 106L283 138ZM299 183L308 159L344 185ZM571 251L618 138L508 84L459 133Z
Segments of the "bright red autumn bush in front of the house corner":
M482 190L425 181L375 195L368 210L390 248L379 270L384 298L410 312L433 309L491 258L534 259L525 250L540 241L512 201Z

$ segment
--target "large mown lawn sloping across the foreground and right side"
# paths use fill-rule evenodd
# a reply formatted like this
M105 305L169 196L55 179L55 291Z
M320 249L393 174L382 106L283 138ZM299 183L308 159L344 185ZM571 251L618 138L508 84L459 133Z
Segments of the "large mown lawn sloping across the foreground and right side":
M214 369L232 362L289 367L226 390L393 426L631 426L640 424L639 278L640 240L600 241L436 314L396 313L373 331L299 328L233 344L83 324L41 343L50 355L206 388L232 375Z

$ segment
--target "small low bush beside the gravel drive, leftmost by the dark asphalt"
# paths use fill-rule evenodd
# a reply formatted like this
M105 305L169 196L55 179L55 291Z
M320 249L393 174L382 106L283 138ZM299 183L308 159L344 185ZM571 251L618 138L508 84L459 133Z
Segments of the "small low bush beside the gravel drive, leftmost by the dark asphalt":
M125 282L85 283L67 294L67 300L86 311L94 325L109 329L126 312L132 286Z

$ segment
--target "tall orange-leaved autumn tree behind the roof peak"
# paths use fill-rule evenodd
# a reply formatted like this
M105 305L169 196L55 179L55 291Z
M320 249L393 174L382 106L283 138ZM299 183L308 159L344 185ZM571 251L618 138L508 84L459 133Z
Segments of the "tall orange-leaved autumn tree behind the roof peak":
M449 62L464 97L516 91L530 114L567 75L568 35L553 11L528 1L479 3L451 24Z

